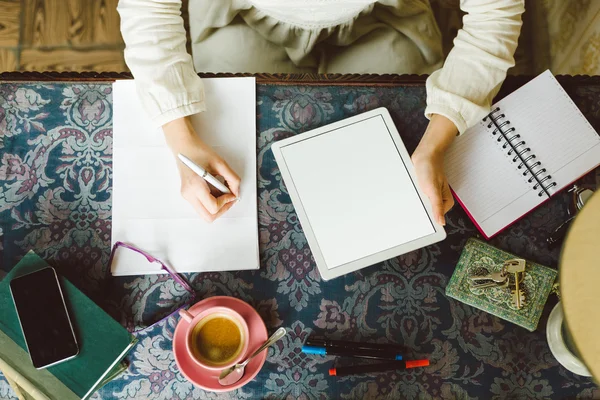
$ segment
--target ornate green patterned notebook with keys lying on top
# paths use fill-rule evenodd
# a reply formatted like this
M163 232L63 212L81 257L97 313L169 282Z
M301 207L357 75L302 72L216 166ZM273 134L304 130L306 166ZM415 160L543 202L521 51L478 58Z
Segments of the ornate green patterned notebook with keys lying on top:
M527 299L520 310L513 305L509 288L470 287L471 275L480 274L483 269L500 271L504 261L511 258L519 257L480 240L469 239L446 287L446 295L533 332L558 275L556 270L527 261L523 283Z

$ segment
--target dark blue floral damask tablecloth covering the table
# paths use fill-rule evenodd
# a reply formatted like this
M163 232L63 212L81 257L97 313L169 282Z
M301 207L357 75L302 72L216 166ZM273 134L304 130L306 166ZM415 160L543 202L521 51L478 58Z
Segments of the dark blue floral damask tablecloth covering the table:
M600 88L580 86L570 94L600 130ZM448 215L445 241L333 281L321 280L269 146L379 106L390 110L412 152L427 123L422 86L258 86L261 268L189 276L199 298L238 297L260 312L270 331L289 329L269 350L256 379L223 395L194 387L175 364L171 339L177 319L171 318L140 336L128 371L95 398L600 396L590 379L568 372L550 353L544 327L555 299L538 330L530 333L444 295L463 245L477 235L458 206ZM34 249L103 304L111 226L111 85L0 84L0 154L0 278ZM593 176L585 179L594 182ZM548 251L544 240L565 218L566 203L566 194L557 196L491 244L556 267L558 250ZM121 311L139 313L152 308L159 296L180 295L163 276L132 277L120 284L126 289ZM430 358L432 366L336 379L327 374L333 358L300 352L311 333L401 343L414 356ZM0 398L14 398L3 378Z

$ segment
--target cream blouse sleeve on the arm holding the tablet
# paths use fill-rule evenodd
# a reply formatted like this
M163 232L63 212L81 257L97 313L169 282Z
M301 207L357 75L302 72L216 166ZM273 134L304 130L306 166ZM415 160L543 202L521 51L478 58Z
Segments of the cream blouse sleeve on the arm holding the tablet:
M493 97L514 66L523 0L462 0L468 14L442 69L427 79L425 115L441 114L459 132L488 112Z

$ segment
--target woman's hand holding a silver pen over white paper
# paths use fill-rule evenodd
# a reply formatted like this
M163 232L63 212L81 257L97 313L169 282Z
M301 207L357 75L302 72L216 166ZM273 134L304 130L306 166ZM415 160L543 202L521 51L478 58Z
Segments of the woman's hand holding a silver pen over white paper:
M163 125L167 144L173 152L179 175L181 195L207 222L213 222L229 210L240 194L240 178L212 148L204 143L194 131L188 117L179 118ZM183 154L203 167L213 176L225 178L232 194L221 194L177 158Z

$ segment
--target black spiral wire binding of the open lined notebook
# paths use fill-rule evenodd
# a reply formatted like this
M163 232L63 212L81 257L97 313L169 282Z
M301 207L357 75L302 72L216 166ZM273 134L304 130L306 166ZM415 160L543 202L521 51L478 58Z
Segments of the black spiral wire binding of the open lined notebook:
M542 197L546 194L550 197L548 189L556 186L556 182L552 180L550 174L546 174L546 168L542 166L542 163L537 159L536 155L532 152L530 147L527 147L525 140L521 139L521 135L516 132L516 128L511 126L510 120L506 119L500 107L496 107L492 110L487 117L483 119L487 123L488 129L494 127L492 136L498 135L496 138L497 142L502 142L502 148L508 148L508 155L512 158L513 163L518 163L517 169L523 171L523 176L529 175L527 179L528 183L534 183L533 189L539 190L538 196Z

